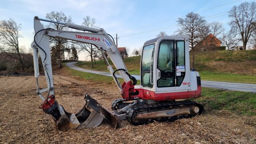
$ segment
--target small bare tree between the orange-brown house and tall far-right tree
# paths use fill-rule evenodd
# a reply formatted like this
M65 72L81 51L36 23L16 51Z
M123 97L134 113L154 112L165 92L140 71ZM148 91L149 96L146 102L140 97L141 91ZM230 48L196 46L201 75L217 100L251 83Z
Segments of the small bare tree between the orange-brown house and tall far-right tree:
M239 42L239 39L236 37L236 35L230 31L223 32L220 40L222 41L223 45L228 48L228 50L230 50L232 46L236 46Z

